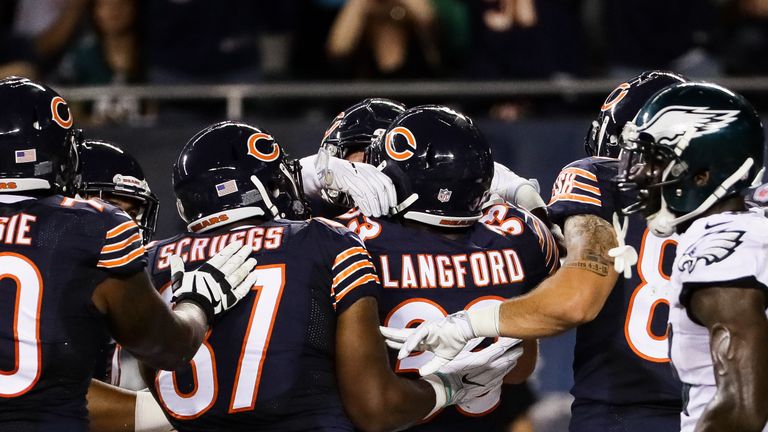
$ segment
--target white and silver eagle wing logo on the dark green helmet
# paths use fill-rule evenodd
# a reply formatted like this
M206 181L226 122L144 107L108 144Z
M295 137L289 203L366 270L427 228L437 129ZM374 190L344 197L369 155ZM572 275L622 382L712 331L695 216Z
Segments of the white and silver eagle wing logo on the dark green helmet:
M668 106L657 112L638 129L652 135L659 144L675 144L693 128L691 138L711 134L736 120L739 110L716 110L709 107Z

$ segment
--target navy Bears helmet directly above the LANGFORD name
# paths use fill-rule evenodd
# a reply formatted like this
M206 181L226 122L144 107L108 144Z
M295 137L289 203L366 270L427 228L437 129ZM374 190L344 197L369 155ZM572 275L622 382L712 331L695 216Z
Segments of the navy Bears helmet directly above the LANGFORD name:
M397 117L369 148L397 190L398 214L439 227L466 227L481 217L493 178L491 149L469 117L424 105Z

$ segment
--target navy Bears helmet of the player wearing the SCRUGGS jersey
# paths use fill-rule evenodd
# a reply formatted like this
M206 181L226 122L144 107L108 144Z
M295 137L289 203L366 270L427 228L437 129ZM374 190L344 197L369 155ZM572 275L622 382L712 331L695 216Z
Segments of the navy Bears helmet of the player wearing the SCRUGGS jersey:
M173 165L179 215L192 232L250 217L306 219L300 173L266 131L214 124L192 137Z

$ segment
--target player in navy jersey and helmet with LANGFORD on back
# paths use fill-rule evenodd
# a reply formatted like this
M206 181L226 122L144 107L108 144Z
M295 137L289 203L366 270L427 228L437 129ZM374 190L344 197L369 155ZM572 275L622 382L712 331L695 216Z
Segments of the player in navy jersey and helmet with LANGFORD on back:
M529 213L498 204L486 219L503 228L481 223L494 163L469 117L443 106L408 109L367 150L366 162L384 166L392 179L397 213L369 218L352 210L337 220L356 231L371 253L384 288L382 325L404 328L501 303L527 292L557 266L554 239ZM512 383L524 381L536 362L536 341L524 346ZM391 364L399 374L414 375L431 357L392 356ZM506 413L496 410L501 392L443 410L413 430L503 429Z

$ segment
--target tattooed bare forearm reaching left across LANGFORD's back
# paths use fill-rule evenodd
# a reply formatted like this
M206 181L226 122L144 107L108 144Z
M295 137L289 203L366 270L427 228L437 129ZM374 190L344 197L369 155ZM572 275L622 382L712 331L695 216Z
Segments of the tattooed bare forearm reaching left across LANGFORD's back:
M618 274L608 251L616 246L613 227L594 215L566 219L568 255L562 267L527 295L499 310L502 336L552 336L593 320L603 308Z

